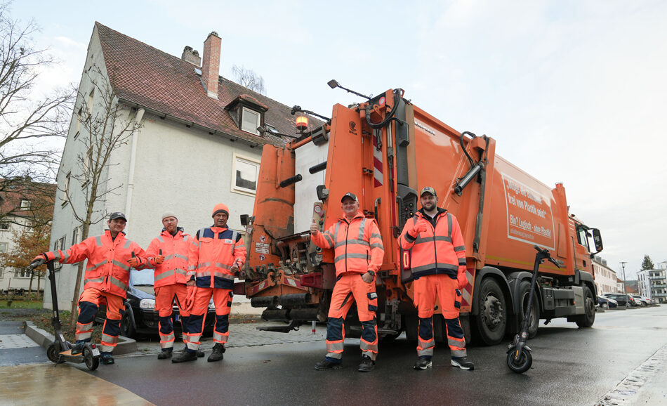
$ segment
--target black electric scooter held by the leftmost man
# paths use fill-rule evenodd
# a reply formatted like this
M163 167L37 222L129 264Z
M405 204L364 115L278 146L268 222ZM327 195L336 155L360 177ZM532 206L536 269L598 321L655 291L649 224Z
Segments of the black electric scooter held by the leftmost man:
M42 261L33 261L30 263L28 269L40 266ZM53 326L53 335L55 341L49 344L46 348L46 357L55 365L63 362L74 362L81 364L86 363L86 367L91 371L100 366L100 349L94 343L86 343L81 354L72 355L72 343L65 340L65 335L62 334L62 325L60 324L60 313L58 312L58 294L55 292L55 266L53 261L46 261L46 268L48 269L48 280L51 281L51 299L53 300L53 317L51 317L51 325Z

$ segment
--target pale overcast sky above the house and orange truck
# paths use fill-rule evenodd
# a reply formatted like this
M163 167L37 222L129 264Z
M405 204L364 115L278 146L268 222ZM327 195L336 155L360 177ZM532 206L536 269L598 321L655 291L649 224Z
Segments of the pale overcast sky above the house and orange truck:
M321 4L321 5L320 5ZM267 96L331 114L400 87L543 183L600 228L602 258L628 280L667 261L667 1L15 1L60 65L43 86L79 84L99 21L166 53L223 39ZM621 273L619 273L621 276Z

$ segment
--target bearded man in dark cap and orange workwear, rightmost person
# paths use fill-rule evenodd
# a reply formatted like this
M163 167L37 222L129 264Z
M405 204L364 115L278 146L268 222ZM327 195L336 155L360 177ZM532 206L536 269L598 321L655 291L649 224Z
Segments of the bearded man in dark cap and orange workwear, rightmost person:
M419 318L417 362L414 369L432 366L433 312L440 303L447 326L447 343L451 351L451 365L474 369L467 358L465 336L458 311L461 308L461 289L465 277L465 245L461 228L454 214L437 207L434 188L426 187L420 193L421 209L409 219L399 237L402 249L411 250L411 270L414 282L414 305Z

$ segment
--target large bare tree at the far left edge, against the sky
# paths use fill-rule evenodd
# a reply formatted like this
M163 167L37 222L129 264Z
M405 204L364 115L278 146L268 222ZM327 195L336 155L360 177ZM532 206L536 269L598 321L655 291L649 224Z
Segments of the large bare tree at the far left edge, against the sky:
M0 4L0 193L21 189L41 195L59 162L58 152L44 141L67 135L74 91L35 96L39 72L53 60L32 44L35 23L20 25L9 5ZM0 221L13 213L1 210Z

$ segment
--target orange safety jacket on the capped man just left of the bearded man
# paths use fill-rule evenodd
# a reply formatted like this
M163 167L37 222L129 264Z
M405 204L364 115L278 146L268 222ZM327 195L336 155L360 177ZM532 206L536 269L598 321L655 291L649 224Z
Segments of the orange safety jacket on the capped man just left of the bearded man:
M317 247L334 248L337 277L345 272L377 272L385 256L378 223L374 218L364 217L360 211L349 223L343 216L329 230L311 238Z

